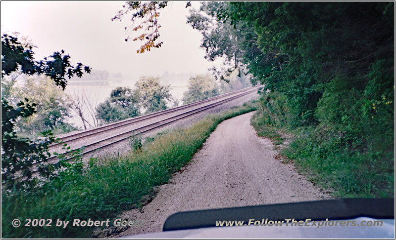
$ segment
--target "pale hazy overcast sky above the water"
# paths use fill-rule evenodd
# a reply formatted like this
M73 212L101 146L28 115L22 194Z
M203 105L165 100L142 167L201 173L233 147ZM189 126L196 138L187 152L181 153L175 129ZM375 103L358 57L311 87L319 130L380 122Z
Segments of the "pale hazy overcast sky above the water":
M199 48L201 35L186 24L186 3L173 2L160 15L160 48L144 54L142 42L125 41L130 21L111 21L124 1L1 1L1 32L19 32L38 46L36 59L64 49L75 64L81 62L110 73L138 78L163 72L205 73L207 62ZM198 8L199 3L193 2Z

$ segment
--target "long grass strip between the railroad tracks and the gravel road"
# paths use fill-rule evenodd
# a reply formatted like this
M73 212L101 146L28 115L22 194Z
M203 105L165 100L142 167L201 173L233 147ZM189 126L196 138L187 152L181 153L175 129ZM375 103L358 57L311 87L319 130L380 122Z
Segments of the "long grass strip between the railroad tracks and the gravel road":
M153 193L154 186L166 183L192 159L221 121L256 109L254 101L245 103L191 127L157 134L128 154L91 159L85 166L76 161L38 189L2 192L1 237L90 237L93 228L72 227L74 219L111 220L121 210L138 207L144 196ZM11 225L16 218L21 221L19 228ZM25 227L25 219L52 222L50 227ZM56 227L57 219L70 222L65 228Z

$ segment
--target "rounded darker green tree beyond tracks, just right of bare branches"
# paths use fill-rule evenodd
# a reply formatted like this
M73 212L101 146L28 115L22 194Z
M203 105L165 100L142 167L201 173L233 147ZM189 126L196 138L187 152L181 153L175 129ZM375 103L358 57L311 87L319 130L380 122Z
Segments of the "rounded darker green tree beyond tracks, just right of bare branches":
M110 97L96 108L96 115L102 122L116 122L140 115L139 96L128 87L117 87Z

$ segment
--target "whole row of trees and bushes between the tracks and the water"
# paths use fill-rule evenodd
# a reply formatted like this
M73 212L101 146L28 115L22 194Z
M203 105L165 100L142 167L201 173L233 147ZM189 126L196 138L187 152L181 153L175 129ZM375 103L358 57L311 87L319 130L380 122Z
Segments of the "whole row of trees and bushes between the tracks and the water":
M33 46L27 38L22 37L21 40L24 41L21 45ZM81 79L107 79L109 76L106 71L92 70L91 74L92 76ZM78 77L71 77L75 78ZM207 74L192 76L182 102L192 103L239 89L243 86L241 80L233 76L231 82L227 83L219 82ZM53 134L61 134L78 130L74 124L68 122L72 111L80 118L84 129L88 129L180 104L179 99L170 94L170 85L161 84L159 77L143 76L135 83L134 89L117 87L102 103L93 100L91 91L80 90L65 93L50 76L29 75L19 68L4 75L1 81L1 97L10 106L16 107L25 98L35 104L34 113L14 122L14 130L19 137L36 139L43 131L51 130Z

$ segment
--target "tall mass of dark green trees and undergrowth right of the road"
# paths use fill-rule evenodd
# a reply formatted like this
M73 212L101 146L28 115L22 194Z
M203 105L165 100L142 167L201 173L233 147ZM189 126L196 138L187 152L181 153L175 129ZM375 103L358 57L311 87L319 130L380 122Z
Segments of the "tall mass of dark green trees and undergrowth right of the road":
M203 48L234 56L252 83L265 85L252 124L276 143L278 131L294 133L283 153L311 181L337 197L394 197L394 8L204 2L200 10L211 17L193 11L190 19ZM238 44L208 40L227 24ZM206 25L214 30L202 31Z

